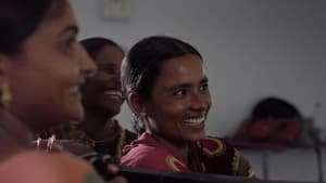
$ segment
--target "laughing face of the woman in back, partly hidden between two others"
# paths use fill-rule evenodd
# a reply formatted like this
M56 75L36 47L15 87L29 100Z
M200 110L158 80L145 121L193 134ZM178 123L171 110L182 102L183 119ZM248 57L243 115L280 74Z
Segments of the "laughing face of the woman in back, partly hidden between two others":
M105 45L96 56L97 74L83 87L86 110L102 112L110 117L120 113L123 104L120 68L124 53L114 45Z

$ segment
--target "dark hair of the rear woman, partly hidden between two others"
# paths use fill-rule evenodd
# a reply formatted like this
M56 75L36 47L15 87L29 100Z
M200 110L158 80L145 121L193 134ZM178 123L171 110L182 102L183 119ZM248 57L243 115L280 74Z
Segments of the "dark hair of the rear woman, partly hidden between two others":
M93 60L98 56L99 52L105 47L105 45L112 45L117 48L123 54L125 52L123 49L114 41L106 39L106 38L87 38L80 41L82 45L85 48L89 56Z

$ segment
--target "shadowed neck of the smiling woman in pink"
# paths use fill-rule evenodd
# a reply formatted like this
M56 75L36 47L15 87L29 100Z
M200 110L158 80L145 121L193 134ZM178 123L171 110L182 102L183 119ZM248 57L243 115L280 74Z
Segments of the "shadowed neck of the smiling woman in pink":
M185 165L188 164L188 154L189 154L189 143L188 142L176 142L172 140L164 139L159 134L150 133L159 143L166 146L178 159L180 159Z

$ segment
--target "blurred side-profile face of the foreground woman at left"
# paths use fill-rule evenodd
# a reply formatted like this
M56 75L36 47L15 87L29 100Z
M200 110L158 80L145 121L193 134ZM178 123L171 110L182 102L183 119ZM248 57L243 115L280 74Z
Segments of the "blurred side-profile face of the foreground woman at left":
M80 120L84 110L79 86L96 66L76 41L77 25L72 9L57 1L22 52L9 56L5 80L13 101L9 110L35 131L57 122Z

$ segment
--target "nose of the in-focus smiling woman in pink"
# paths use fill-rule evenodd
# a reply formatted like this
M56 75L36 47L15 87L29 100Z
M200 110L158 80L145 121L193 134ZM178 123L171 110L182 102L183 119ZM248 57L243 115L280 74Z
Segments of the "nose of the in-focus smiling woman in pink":
M208 110L211 106L211 96L209 93L193 93L191 95L190 108L196 112Z

